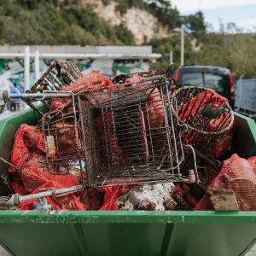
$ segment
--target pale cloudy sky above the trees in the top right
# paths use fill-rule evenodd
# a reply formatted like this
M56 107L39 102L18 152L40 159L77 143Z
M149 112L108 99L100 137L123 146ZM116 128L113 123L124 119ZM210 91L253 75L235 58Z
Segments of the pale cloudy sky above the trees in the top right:
M181 15L201 10L216 32L220 22L235 22L244 32L256 32L256 0L171 0L171 3Z

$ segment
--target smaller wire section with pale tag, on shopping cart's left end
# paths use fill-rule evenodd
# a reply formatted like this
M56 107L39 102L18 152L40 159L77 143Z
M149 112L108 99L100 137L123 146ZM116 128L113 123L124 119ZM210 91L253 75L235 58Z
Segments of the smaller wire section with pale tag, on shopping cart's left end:
M55 96L54 96L55 95ZM44 113L40 131L44 132L45 161L52 174L77 175L84 172L84 140L79 119L77 97L71 92L50 92L51 100L66 99L61 109Z

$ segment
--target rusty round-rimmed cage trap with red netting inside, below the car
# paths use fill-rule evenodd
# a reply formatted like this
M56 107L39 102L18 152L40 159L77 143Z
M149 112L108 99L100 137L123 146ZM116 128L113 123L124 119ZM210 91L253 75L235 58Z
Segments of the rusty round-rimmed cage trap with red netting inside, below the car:
M172 96L176 131L195 153L211 157L218 142L230 131L234 114L228 101L214 90L186 86Z

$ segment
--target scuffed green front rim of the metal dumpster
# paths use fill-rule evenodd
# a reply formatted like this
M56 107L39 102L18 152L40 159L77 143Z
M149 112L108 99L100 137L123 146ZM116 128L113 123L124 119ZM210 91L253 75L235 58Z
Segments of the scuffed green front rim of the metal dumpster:
M256 212L214 211L0 211L0 223L15 224L214 224L256 223Z

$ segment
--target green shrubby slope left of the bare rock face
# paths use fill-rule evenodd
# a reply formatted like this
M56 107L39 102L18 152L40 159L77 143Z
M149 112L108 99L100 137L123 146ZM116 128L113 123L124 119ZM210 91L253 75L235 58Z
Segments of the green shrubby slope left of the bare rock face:
M88 7L55 0L1 0L0 44L134 44L124 26L109 26Z

